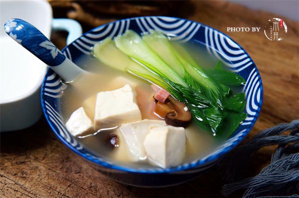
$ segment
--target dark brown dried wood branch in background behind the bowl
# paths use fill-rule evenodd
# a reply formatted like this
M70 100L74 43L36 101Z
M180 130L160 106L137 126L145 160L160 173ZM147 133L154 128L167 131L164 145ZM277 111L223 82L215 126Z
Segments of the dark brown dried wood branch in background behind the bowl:
M181 9L181 3L168 0L151 1L96 1L96 0L48 0L53 10L59 10L67 17L92 27L119 18L146 15L171 15ZM184 1L185 2L185 1ZM184 3L183 3L184 4ZM57 13L57 12L56 12ZM61 15L61 14L60 14ZM60 16L59 15L59 16ZM60 16L61 17L61 16Z

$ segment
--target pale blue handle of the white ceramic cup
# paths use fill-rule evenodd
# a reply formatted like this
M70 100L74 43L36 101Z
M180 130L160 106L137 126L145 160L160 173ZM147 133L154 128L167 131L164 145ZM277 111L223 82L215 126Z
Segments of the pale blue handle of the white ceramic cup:
M66 39L66 44L69 45L74 40L82 35L82 27L76 20L69 18L53 18L52 30L65 30L69 34Z

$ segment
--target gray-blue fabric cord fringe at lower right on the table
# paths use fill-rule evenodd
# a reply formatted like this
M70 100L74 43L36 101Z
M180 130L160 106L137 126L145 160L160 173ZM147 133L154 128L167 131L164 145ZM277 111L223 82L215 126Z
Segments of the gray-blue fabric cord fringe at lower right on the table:
M289 130L290 135L281 135ZM251 156L260 148L270 145L278 145L271 164L257 176L240 181ZM219 168L227 170L224 176L227 182L239 181L224 185L224 196L247 189L244 198L299 198L299 120L261 131L247 144L235 149Z

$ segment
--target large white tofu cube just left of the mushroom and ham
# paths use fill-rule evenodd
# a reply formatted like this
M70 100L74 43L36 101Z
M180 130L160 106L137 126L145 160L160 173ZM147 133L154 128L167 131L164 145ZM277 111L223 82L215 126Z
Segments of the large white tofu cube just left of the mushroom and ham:
M97 94L94 124L95 128L111 128L141 120L136 93L130 85L113 91Z

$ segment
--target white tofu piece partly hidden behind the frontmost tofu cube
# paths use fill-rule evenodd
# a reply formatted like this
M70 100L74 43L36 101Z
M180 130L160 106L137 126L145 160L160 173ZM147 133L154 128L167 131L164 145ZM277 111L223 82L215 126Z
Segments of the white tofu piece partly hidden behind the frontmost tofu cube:
M124 124L120 127L130 153L134 156L133 161L145 159L146 152L143 143L149 133L149 126L152 125L163 126L166 124L162 120L142 120Z

